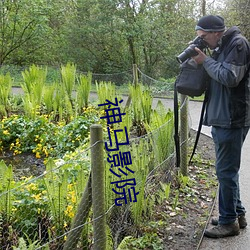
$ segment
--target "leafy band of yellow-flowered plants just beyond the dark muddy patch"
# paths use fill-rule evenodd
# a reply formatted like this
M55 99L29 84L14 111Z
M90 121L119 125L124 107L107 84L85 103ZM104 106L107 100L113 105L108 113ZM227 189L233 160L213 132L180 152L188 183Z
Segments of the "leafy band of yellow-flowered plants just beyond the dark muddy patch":
M88 141L89 129L99 119L98 113L85 110L70 123L55 124L49 116L30 119L25 116L11 116L0 121L0 149L11 150L13 154L33 152L37 158L63 155Z

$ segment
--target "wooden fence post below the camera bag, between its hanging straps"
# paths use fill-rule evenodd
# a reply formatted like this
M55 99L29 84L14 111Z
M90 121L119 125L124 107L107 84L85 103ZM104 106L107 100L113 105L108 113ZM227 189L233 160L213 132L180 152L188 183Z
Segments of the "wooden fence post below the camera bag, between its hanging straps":
M187 176L188 174L188 97L180 95L181 109L180 109L180 168L181 174Z

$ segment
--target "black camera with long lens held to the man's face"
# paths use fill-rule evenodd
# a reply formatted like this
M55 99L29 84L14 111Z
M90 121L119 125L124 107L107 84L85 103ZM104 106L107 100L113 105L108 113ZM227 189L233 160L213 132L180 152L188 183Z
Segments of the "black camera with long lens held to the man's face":
M195 47L199 48L200 50L203 50L207 48L207 43L199 36L197 36L190 45L180 54L176 57L177 61L179 63L183 63L188 58L198 55L198 53L195 51Z

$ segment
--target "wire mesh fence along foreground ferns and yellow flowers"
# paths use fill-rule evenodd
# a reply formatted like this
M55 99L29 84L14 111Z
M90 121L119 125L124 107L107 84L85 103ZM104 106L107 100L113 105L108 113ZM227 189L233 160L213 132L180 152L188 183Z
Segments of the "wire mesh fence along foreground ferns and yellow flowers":
M165 120L147 134L133 136L131 130L119 152L109 152L98 137L73 158L48 159L37 176L17 178L2 161L1 249L119 249L141 234L138 225L150 219L161 184L176 171L173 113L155 120L160 117ZM103 176L94 180L100 170Z

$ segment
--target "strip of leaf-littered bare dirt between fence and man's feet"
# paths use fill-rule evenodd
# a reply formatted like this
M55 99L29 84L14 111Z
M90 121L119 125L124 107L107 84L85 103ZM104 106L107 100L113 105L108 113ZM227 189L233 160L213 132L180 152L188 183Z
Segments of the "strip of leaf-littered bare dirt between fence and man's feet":
M195 132L191 131L191 143ZM197 154L189 166L189 178L185 188L179 189L177 209L166 204L168 227L162 229L164 249L166 250L195 250L199 249L203 232L213 209L217 193L217 179L214 168L214 144L210 137L200 136ZM175 199L173 195L172 199Z

